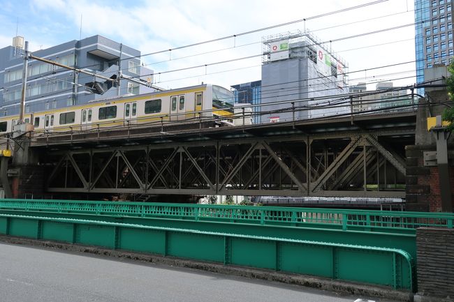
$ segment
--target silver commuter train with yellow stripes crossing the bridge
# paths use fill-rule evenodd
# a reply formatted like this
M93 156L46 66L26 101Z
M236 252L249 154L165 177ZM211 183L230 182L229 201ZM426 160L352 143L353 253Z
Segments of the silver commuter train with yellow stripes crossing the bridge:
M154 121L191 121L233 116L233 93L212 84L96 100L84 105L24 114L36 132L112 128ZM19 116L0 118L0 133L15 130Z

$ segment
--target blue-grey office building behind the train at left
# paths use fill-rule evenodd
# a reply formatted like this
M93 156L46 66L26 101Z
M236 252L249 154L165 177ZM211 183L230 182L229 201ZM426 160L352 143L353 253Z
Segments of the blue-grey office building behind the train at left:
M24 64L23 38L16 37L13 45L0 49L0 114L19 114ZM102 36L49 47L33 52L35 56L66 66L87 70L90 73L117 79L119 73L152 80L152 70L140 65L140 51ZM28 61L25 113L39 112L71 105L81 105L92 100L139 94L153 91L140 84L121 80L115 82L59 68L49 63Z

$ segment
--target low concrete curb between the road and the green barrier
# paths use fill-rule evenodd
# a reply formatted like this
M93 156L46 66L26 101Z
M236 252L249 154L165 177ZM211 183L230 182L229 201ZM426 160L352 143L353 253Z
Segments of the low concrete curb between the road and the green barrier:
M372 285L363 285L354 282L342 282L325 278L316 278L308 275L296 275L291 273L278 273L265 269L251 269L239 266L224 266L223 264L212 262L198 262L176 257L163 257L161 255L144 254L140 252L126 252L124 250L110 250L94 246L81 246L71 243L61 243L57 241L41 241L36 239L25 239L22 237L0 235L0 242L21 244L25 246L38 246L43 248L53 248L57 250L68 250L71 252L86 252L93 255L103 255L119 259L128 259L140 262L150 262L155 264L164 264L168 266L185 267L222 273L226 275L235 275L246 278L255 278L261 280L270 280L283 282L286 284L312 287L326 290L328 292L337 292L340 294L351 294L358 296L376 297L380 299L393 299L398 301L413 301L413 294L401 292L386 287ZM425 301L421 301L425 302Z

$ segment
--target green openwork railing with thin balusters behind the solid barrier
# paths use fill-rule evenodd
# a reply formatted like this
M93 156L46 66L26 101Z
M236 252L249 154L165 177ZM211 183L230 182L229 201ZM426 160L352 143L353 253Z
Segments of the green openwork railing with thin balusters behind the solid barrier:
M260 225L325 225L416 229L453 228L453 213L367 211L346 209L288 208L277 206L224 206L207 204L158 204L142 202L91 202L73 200L0 199L0 210L90 213L184 220L218 220Z

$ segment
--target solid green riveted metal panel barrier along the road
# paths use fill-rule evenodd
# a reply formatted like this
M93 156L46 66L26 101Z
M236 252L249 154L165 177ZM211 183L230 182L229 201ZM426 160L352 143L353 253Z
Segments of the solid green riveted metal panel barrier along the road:
M151 227L100 218L0 214L0 234L415 290L413 259L408 252L397 248Z

